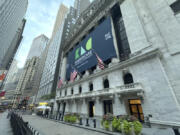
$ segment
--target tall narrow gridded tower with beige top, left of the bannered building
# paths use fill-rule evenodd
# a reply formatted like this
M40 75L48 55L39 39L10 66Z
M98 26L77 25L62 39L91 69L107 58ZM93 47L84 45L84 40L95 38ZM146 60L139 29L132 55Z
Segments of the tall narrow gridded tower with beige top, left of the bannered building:
M58 56L61 45L61 38L64 27L64 19L67 15L68 8L63 4L60 5L56 22L53 29L53 34L50 39L50 46L47 54L47 59L45 62L39 91L37 94L37 101L44 95L51 94L52 90L56 89L56 82L54 79L57 78L57 68Z

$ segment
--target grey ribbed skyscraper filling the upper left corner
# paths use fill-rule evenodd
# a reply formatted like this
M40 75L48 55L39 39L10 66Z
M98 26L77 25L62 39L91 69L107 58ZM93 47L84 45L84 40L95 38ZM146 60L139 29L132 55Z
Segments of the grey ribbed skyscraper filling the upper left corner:
M0 69L8 69L22 39L28 0L0 1Z

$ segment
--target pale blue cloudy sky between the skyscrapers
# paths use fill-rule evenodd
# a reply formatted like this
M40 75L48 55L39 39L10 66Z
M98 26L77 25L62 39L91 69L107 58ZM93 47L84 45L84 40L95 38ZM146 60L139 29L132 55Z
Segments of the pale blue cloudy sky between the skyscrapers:
M15 56L18 67L22 68L32 41L40 34L51 37L53 25L59 5L72 6L74 0L29 0L26 12L26 26L23 33L23 40Z

